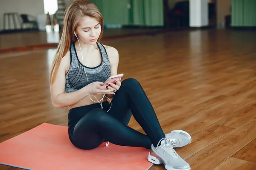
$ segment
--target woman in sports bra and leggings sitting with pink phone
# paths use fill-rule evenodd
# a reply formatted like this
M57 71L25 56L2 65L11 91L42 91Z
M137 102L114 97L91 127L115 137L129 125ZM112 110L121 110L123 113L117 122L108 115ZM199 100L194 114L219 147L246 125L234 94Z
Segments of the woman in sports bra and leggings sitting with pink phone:
M173 147L189 144L191 137L182 130L163 133L136 79L125 79L122 85L119 79L103 86L108 77L117 74L119 55L115 48L99 43L102 31L102 14L93 3L75 0L67 8L52 63L51 97L56 108L69 108L70 141L85 150L104 141L145 147L151 149L148 161L163 163L167 170L190 170ZM109 98L113 98L111 104ZM131 114L146 135L128 127Z

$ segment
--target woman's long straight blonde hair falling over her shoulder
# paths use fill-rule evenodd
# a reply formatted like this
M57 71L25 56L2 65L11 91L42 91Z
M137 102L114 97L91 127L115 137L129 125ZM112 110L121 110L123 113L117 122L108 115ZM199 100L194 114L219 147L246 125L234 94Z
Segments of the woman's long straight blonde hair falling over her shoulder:
M64 14L61 40L58 44L57 52L52 62L52 68L50 73L51 84L53 84L53 82L55 81L56 73L60 66L61 59L69 50L71 42L76 41L76 36L74 32L79 24L81 17L84 16L93 17L97 21L99 21L102 29L98 41L102 39L103 18L97 6L87 0L75 0L73 3L71 3L71 5L66 9Z

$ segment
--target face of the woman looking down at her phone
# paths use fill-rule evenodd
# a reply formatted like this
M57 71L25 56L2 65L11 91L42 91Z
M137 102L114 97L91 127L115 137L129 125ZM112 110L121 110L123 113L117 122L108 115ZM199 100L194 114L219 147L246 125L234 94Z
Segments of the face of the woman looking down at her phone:
M101 33L99 21L93 17L82 17L76 28L79 40L86 44L95 44Z

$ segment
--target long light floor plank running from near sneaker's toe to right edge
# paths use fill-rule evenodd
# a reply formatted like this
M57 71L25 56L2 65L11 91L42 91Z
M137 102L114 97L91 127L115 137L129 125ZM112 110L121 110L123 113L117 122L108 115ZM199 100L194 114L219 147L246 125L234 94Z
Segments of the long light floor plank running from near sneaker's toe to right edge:
M204 150L190 156L186 161L191 165L191 169L210 170L221 164L255 138L256 120L252 119L210 144Z

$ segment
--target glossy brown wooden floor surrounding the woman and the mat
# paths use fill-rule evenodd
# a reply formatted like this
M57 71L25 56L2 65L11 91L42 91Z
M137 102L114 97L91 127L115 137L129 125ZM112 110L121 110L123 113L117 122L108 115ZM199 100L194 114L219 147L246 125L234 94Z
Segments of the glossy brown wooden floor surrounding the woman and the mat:
M179 31L104 43L119 50L124 79L140 81L164 132L191 134L192 143L176 150L192 170L256 169L255 31ZM67 108L50 100L54 52L0 55L0 142L43 122L67 126ZM143 132L134 119L129 126Z

